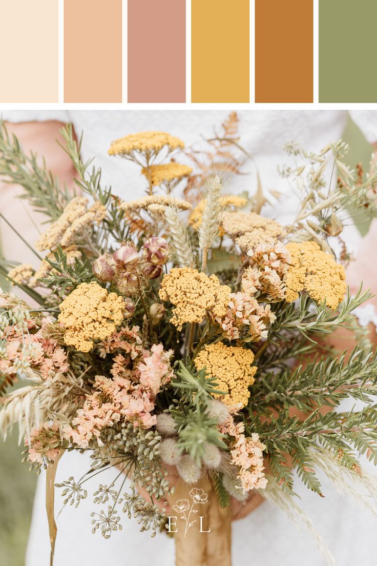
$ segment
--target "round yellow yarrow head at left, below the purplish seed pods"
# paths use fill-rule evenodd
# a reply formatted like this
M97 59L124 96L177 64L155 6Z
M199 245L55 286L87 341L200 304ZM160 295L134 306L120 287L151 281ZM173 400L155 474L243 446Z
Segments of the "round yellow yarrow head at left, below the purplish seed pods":
M64 342L81 352L94 346L93 340L106 340L122 323L123 298L109 293L98 283L81 283L60 304L58 321L64 327Z

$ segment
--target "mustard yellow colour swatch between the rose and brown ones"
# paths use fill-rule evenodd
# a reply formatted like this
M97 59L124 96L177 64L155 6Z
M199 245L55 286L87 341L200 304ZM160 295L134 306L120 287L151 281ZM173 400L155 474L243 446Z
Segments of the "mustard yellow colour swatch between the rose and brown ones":
M249 102L249 9L249 0L192 0L192 102Z

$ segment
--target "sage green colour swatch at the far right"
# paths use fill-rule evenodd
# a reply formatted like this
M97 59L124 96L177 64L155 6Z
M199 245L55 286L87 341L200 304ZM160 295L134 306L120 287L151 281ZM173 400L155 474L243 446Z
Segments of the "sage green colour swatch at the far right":
M377 102L377 2L319 0L319 102Z

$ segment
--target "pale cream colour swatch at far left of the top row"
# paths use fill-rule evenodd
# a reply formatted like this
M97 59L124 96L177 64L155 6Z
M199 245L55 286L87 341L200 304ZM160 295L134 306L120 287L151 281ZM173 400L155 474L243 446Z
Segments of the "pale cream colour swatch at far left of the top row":
M58 0L3 0L0 22L0 102L58 102Z

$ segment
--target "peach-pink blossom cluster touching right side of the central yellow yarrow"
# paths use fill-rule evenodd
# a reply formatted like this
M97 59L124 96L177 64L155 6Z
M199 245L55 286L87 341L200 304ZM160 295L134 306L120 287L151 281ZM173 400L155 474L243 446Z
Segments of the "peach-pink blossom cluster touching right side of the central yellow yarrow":
M213 318L228 340L242 337L252 342L267 338L267 324L276 320L270 305L263 307L257 299L246 293L231 293L226 314Z

